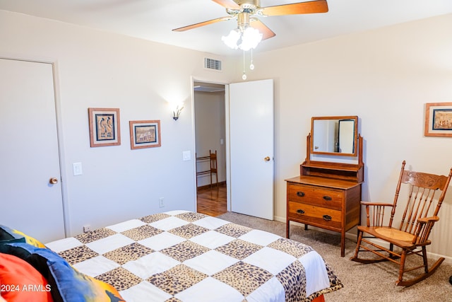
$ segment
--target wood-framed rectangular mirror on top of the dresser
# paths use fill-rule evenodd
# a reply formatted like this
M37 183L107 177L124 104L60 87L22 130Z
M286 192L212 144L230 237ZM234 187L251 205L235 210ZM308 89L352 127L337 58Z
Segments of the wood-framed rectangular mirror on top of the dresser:
M358 117L312 117L311 153L357 156Z

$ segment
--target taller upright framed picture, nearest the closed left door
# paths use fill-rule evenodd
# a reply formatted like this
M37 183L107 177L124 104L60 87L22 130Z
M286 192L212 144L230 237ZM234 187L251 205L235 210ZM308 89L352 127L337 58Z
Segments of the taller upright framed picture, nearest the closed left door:
M92 147L121 144L118 108L88 108L88 117Z

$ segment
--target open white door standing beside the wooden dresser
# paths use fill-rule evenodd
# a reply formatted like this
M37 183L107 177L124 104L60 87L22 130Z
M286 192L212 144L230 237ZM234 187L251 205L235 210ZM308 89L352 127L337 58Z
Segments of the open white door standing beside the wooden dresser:
M273 80L229 86L231 211L273 220Z

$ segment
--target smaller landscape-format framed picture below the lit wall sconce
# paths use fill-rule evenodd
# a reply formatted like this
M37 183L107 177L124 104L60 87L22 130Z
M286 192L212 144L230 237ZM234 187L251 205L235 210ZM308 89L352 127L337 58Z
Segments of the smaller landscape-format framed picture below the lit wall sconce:
M160 147L160 120L130 121L131 149Z

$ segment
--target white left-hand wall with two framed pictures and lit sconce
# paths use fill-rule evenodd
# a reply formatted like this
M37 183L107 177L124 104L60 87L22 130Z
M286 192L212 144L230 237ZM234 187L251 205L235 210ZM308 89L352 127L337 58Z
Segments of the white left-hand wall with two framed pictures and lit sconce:
M69 235L85 224L195 209L192 76L227 83L227 59L6 11L0 40L1 57L55 62ZM223 59L223 72L203 69L205 55ZM185 102L177 122L167 100ZM120 109L121 146L90 148L88 108ZM162 146L131 150L130 120L160 120ZM83 175L72 175L74 162Z

